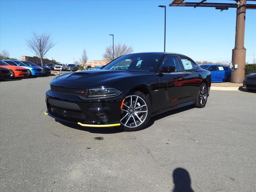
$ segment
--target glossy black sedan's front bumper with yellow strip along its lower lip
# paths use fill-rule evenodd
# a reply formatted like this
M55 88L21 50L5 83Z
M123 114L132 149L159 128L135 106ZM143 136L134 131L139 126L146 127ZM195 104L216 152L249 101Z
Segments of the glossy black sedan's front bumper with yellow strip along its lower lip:
M82 99L75 95L48 90L46 105L49 116L64 122L90 127L120 126L122 98Z

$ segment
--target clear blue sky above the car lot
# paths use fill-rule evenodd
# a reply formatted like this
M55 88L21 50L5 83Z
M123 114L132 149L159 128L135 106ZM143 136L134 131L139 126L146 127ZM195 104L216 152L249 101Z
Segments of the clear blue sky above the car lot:
M83 48L88 61L102 59L106 46L112 44L108 34L114 34L116 43L132 46L134 52L163 51L164 8L158 5L170 2L1 0L0 49L15 58L33 56L25 39L34 31L52 35L56 46L46 57L63 63L73 63L73 58L79 61ZM220 12L168 6L166 12L166 52L194 60L231 60L236 9ZM246 12L245 34L246 60L252 62L254 54L256 57L256 10Z

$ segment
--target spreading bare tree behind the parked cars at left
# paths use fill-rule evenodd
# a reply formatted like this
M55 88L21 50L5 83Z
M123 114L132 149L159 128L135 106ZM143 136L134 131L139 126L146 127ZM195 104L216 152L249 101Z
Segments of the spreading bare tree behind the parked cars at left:
M52 48L55 43L52 42L52 38L47 33L36 34L32 33L32 37L26 40L28 48L36 55L40 57L41 65L43 66L43 58L45 54Z

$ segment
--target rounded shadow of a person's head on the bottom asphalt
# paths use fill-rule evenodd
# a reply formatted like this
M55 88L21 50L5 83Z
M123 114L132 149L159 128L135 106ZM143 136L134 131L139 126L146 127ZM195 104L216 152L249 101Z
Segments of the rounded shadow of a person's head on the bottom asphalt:
M174 188L172 192L194 192L189 173L184 168L176 168L172 173Z

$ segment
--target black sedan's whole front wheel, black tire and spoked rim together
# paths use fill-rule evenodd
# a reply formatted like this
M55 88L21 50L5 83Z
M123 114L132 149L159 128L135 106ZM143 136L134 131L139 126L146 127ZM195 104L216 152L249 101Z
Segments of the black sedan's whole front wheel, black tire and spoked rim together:
M149 98L140 91L131 92L124 98L121 109L121 129L137 131L143 129L150 120L151 104Z

